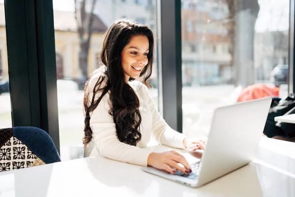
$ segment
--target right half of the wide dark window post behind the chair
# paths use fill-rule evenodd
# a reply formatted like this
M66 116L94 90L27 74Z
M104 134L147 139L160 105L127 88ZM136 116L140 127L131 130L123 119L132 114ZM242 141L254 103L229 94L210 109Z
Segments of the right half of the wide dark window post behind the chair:
M59 151L59 113L52 0L35 0L42 129Z

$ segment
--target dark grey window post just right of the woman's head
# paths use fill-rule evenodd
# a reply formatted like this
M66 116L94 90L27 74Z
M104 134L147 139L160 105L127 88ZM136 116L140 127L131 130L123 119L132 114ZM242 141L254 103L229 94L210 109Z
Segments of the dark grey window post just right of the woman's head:
M181 2L161 0L163 117L182 132Z

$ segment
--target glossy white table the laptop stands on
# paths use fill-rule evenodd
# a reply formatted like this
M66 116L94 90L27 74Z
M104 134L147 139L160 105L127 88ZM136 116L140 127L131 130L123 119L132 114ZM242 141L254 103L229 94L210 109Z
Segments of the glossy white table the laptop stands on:
M198 189L137 165L103 157L77 159L1 172L0 197L295 197L295 143L262 137L258 158Z

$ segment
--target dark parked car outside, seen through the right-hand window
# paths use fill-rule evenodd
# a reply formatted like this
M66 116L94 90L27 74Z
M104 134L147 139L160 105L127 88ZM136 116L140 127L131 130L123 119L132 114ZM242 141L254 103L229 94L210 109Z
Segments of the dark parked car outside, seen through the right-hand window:
M276 87L280 87L281 84L287 84L288 69L288 65L275 66L270 72L270 81L274 83Z

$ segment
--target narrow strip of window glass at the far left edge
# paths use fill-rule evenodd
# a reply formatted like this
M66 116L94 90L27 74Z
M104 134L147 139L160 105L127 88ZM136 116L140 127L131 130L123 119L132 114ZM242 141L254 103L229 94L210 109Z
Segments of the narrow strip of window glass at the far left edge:
M12 127L4 2L0 0L0 129Z

